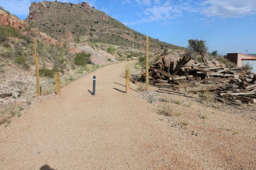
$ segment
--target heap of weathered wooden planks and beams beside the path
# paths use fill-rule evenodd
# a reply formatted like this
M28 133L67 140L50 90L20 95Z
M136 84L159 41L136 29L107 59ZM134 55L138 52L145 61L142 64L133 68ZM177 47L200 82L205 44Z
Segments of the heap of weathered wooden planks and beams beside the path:
M159 88L158 91L188 97L196 97L198 91L213 91L217 101L231 105L256 104L256 74L247 71L249 67L210 67L204 56L202 58L204 64L187 65L191 58L184 56L176 66L174 62L167 66L162 58L162 63L150 66L150 85L171 87ZM134 75L131 81L144 82L145 77L146 73L143 72ZM179 91L181 88L186 92Z

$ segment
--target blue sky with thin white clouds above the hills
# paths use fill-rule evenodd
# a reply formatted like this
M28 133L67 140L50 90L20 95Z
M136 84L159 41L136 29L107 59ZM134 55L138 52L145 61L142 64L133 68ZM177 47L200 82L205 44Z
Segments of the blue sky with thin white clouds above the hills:
M25 19L31 2L0 0L0 6ZM81 3L83 0L58 0ZM256 53L256 0L84 0L153 38L187 47L189 39L207 42L209 52Z

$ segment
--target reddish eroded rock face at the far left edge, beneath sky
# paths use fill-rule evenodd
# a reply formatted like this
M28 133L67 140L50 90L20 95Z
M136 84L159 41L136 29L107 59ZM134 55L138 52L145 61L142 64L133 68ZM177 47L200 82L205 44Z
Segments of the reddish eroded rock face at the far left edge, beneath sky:
M27 27L26 23L23 20L20 20L16 16L12 16L3 10L0 10L0 25L3 25L5 27L13 26L18 31Z

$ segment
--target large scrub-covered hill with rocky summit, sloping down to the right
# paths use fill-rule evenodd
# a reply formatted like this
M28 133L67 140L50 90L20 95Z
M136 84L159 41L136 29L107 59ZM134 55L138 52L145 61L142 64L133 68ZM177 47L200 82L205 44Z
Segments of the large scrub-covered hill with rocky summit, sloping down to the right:
M144 50L145 35L128 28L88 3L31 3L27 21L47 35L68 42L101 42ZM133 43L134 41L134 43ZM181 47L150 38L152 52Z

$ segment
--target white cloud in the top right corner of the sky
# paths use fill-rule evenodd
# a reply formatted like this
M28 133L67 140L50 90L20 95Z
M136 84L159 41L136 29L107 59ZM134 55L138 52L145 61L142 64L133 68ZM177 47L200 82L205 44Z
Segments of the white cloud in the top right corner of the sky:
M204 0L202 5L206 16L236 18L256 14L256 0Z

